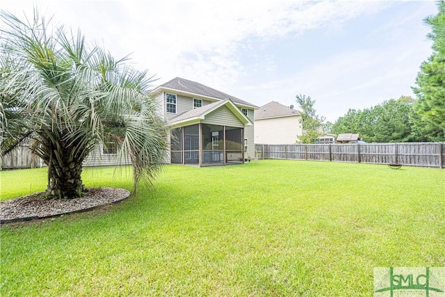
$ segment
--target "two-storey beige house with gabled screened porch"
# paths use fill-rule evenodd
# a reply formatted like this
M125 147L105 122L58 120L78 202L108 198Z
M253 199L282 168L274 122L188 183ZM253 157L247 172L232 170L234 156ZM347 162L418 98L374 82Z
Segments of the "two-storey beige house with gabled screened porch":
M258 106L180 77L161 84L152 95L170 127L170 163L226 165L254 157Z

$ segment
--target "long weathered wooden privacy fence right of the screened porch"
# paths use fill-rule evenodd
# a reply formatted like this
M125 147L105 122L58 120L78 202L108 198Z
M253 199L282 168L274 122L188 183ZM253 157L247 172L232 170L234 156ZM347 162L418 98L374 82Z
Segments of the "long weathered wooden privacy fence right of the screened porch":
M445 143L255 145L259 159L289 159L445 168Z

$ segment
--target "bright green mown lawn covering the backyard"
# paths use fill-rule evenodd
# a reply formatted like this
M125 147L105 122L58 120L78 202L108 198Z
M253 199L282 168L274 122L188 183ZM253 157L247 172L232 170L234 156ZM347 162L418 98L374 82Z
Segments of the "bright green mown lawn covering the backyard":
M8 199L43 190L46 172L0 177ZM1 227L0 295L371 296L374 267L444 266L444 177L334 162L168 166L154 193L107 211ZM83 180L131 189L111 168Z

